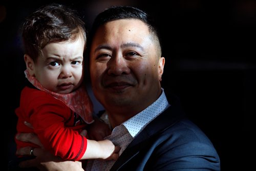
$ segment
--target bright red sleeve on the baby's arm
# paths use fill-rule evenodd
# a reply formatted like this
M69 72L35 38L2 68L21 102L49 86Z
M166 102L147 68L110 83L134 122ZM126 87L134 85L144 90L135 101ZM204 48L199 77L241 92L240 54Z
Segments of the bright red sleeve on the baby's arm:
M86 152L87 139L76 130L85 124L77 125L76 115L66 104L46 92L25 88L19 108L19 119L32 123L47 150L64 160L80 160Z

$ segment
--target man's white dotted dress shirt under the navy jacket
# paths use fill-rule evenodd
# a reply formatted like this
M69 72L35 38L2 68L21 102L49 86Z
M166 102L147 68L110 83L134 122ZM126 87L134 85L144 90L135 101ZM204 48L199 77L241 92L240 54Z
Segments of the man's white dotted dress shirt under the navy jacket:
M143 130L148 123L150 123L159 114L161 114L168 106L169 106L169 103L162 89L161 96L154 103L152 103L145 110L133 116L129 120L116 126L113 129L112 134L106 137L106 139L111 140L115 145L118 145L121 147L121 150L119 152L119 155L121 155L124 149L132 142L134 137L141 130ZM106 113L104 113L101 116L101 119L104 120L106 123L109 123L108 115L106 115ZM111 160L111 161L104 161L104 160L97 160L97 159L89 160L85 170L92 170L92 171L110 170L114 163L115 163L114 160Z

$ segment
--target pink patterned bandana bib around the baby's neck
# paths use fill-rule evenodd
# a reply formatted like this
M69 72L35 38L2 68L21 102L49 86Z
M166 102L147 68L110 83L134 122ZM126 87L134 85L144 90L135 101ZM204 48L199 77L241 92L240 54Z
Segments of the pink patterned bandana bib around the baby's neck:
M89 95L87 94L86 86L84 84L69 94L58 94L42 87L40 82L35 77L30 76L27 70L25 70L25 75L33 86L41 91L51 94L56 99L65 103L72 111L80 115L86 123L89 124L94 121L92 117L93 104Z

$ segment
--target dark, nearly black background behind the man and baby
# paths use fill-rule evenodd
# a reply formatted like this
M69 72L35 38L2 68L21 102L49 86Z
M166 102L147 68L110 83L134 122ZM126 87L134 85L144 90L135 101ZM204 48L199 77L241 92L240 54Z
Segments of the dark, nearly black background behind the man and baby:
M54 1L0 3L5 163L15 154L14 109L24 86L20 27L26 16L50 2ZM55 2L78 10L88 29L97 13L111 5L131 5L151 13L166 60L162 81L165 93L180 97L188 117L216 147L222 170L252 167L252 115L256 104L254 1ZM95 110L99 110L101 107L95 104Z

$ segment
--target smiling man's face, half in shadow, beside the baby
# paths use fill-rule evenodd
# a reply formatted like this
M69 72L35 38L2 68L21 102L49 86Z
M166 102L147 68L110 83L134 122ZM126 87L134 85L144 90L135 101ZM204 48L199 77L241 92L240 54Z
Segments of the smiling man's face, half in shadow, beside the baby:
M153 37L138 19L119 19L97 30L90 53L95 97L106 111L138 113L161 93L164 58L157 56Z

